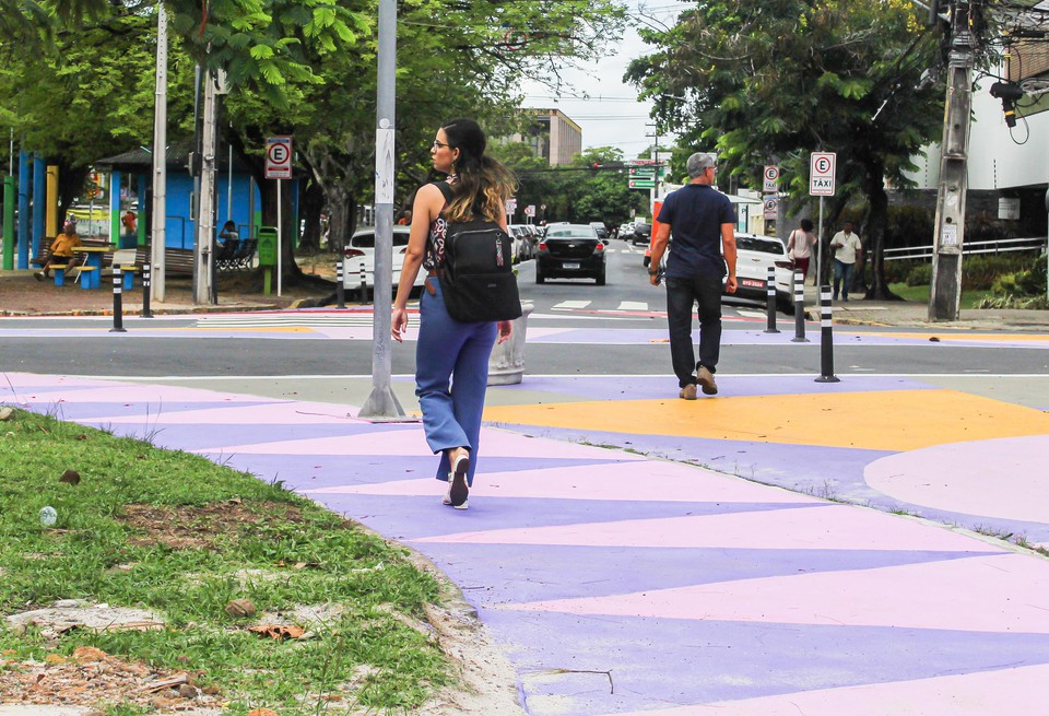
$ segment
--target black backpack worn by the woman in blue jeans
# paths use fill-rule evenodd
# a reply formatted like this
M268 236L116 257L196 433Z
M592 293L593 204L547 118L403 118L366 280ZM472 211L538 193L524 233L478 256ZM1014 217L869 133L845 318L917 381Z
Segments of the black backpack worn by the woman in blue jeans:
M451 187L437 188L451 201ZM463 324L521 317L514 275L514 242L498 224L483 219L449 221L445 259L437 269L448 315Z

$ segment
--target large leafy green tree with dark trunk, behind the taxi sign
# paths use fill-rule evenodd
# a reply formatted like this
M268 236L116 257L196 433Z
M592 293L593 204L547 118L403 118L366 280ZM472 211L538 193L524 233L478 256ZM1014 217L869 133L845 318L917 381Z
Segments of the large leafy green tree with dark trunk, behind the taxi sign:
M888 297L885 181L908 185L905 172L943 117L942 84L916 90L941 54L919 12L909 0L703 2L664 32L643 31L658 49L627 78L653 99L661 126L683 145L719 151L744 186L759 186L762 166L776 163L791 198L806 201L809 154L837 152L832 216L867 199L872 295Z

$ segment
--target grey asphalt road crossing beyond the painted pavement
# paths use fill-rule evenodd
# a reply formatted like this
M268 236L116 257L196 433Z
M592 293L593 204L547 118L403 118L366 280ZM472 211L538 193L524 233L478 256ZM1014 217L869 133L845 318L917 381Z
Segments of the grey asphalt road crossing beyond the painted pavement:
M535 310L529 329L571 328L598 329L593 338L578 343L531 341L527 347L526 371L550 375L668 375L671 373L665 337L665 318L660 314L665 303L661 289L647 283L641 265L643 249L624 242L613 242L609 253L608 285L592 281L553 281L534 283L532 261L519 269L522 298L530 300ZM783 340L763 343L747 340L764 327L762 306L746 302L727 303L724 309L721 368L744 374L814 374L821 372L820 347L793 343L793 319L779 316ZM154 319L127 318L126 333L108 332L103 318L17 319L5 320L8 329L0 338L0 369L50 374L97 376L280 376L280 375L368 375L372 369L372 344L366 340L332 340L315 333L294 338L258 333L239 338L192 330L200 326L200 316ZM250 317L245 317L250 321ZM361 317L360 320L368 320ZM165 332L163 337L141 336L148 327L187 329ZM10 329L17 330L11 331ZM44 330L40 330L44 329ZM810 324L809 330L816 331ZM74 334L70 334L72 331ZM635 338L616 340L617 331L635 331ZM1045 374L1049 352L1044 350L1001 350L988 342L952 344L945 340L926 339L896 344L880 336L906 334L906 329L838 327L834 350L834 371L849 374ZM965 336L971 331L938 329L944 337ZM602 337L603 336L603 337ZM284 338L286 340L274 340ZM815 338L815 337L813 337ZM580 348L582 350L580 350ZM414 372L414 345L394 345L392 373Z

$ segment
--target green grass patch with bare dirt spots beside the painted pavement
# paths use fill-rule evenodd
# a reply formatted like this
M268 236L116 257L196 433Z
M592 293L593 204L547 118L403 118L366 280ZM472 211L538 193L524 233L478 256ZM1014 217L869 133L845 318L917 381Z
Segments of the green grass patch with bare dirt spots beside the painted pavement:
M79 482L60 481L67 470ZM40 524L46 505L58 513L52 527ZM162 674L190 673L233 716L259 706L328 713L332 700L342 712L411 713L453 679L425 624L439 595L406 550L280 484L34 413L0 423L0 612L82 599L164 621L56 635L0 620L0 684L31 659L96 647ZM228 615L233 599L264 617ZM325 614L304 625L309 638L246 629L293 623L304 606ZM125 696L108 694L102 707L144 713Z

